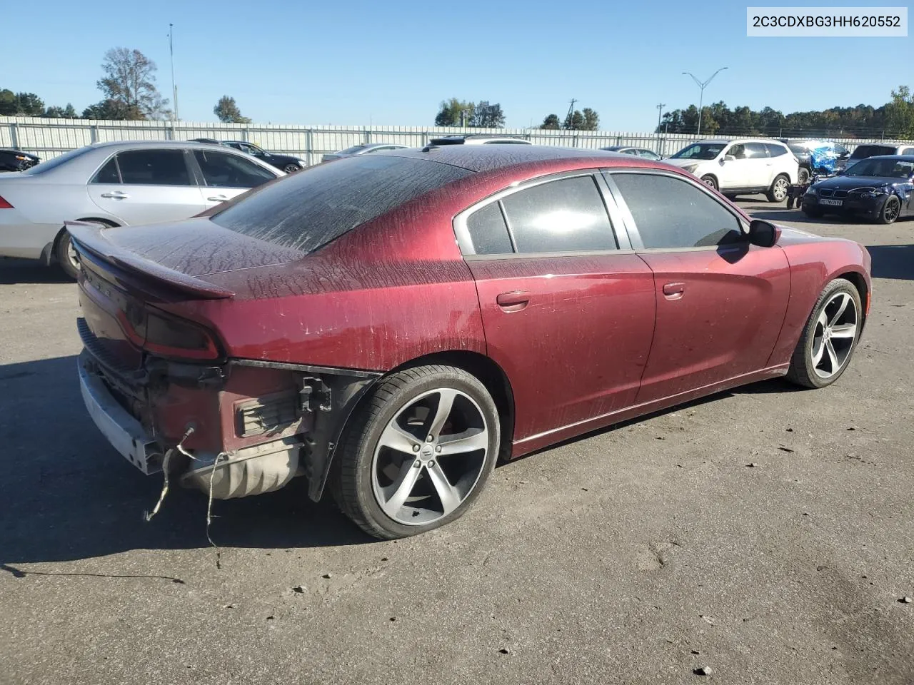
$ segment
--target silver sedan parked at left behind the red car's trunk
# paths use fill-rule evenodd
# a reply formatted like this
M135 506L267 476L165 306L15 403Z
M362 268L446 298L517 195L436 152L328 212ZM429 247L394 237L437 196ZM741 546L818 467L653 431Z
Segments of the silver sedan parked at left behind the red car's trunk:
M285 175L197 142L98 142L0 176L0 257L58 262L76 276L66 221L133 226L194 216Z

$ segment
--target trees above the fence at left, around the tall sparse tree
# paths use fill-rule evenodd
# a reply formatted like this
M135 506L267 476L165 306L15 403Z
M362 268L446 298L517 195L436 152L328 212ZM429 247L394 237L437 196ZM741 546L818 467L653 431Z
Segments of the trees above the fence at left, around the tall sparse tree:
M136 49L113 47L101 62L101 79L96 85L102 99L78 114L71 102L66 107L45 106L35 93L0 90L0 116L48 117L53 119L107 119L142 121L170 119L168 100L155 85L155 62ZM222 96L213 108L219 121L250 123L234 98Z

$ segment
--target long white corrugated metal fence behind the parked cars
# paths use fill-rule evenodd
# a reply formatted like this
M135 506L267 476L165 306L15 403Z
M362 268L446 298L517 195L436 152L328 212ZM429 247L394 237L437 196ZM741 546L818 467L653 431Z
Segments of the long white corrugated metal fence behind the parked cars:
M276 153L294 154L309 164L321 155L365 142L397 142L410 147L430 138L455 133L494 133L524 138L541 145L596 149L609 145L637 145L669 155L701 137L616 131L544 131L542 129L461 129L434 126L282 126L272 124L194 123L190 121L93 121L0 117L0 147L15 147L51 159L91 142L216 138L254 142ZM703 136L704 137L704 136ZM877 139L830 139L851 150ZM886 141L889 142L889 141Z

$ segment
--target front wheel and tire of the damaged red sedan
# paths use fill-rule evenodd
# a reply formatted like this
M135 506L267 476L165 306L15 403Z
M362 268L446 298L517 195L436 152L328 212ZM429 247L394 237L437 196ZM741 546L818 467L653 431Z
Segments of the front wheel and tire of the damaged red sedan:
M803 327L787 379L810 388L832 385L850 363L862 326L860 293L850 281L834 279Z

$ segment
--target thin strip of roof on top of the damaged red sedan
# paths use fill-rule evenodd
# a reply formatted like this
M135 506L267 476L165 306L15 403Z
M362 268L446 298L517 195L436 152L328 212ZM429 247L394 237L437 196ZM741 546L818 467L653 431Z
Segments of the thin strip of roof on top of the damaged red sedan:
M631 154L548 145L430 145L406 150L384 150L377 155L430 160L459 166L473 172L506 170L530 163L560 163L562 161L592 161L595 167L639 166L644 165L644 162L655 163ZM580 164L569 164L569 168L582 167Z

